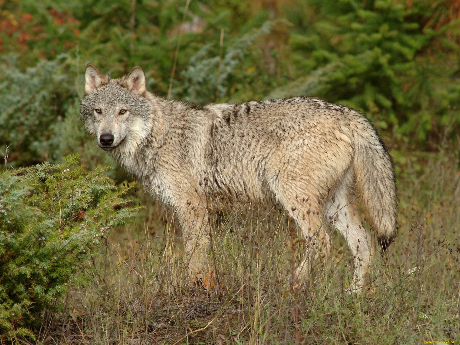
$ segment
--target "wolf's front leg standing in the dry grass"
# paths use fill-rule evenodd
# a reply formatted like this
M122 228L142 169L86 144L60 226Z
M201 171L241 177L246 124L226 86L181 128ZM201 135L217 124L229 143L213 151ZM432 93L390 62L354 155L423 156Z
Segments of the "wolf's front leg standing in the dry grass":
M208 267L207 255L210 244L209 215L201 202L187 201L186 206L186 210L179 212L185 245L184 261L191 282L201 280L206 288L210 288L212 270Z

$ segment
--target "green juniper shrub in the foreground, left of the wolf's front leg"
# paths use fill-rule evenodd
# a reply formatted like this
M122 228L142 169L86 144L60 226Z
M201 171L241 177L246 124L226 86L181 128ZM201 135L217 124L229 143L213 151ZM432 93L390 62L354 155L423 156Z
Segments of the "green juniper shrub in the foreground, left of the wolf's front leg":
M0 174L0 338L34 339L45 310L62 307L69 284L98 254L112 227L137 207L104 175L78 165L47 162Z

